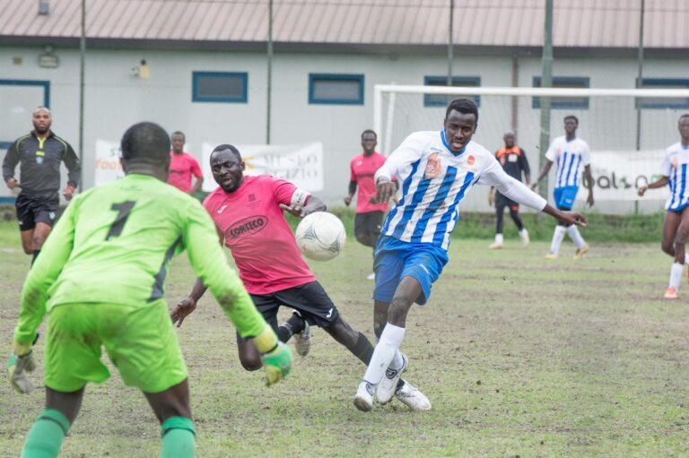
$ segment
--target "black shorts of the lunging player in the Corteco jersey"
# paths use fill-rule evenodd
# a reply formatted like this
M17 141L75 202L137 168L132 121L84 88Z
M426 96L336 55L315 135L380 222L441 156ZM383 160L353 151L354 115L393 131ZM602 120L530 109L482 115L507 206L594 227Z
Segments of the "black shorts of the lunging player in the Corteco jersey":
M263 315L267 324L277 332L277 310L281 306L297 310L311 325L327 327L334 324L340 313L327 292L318 281L294 288L282 289L270 294L250 294L258 312ZM237 341L244 341L237 334Z

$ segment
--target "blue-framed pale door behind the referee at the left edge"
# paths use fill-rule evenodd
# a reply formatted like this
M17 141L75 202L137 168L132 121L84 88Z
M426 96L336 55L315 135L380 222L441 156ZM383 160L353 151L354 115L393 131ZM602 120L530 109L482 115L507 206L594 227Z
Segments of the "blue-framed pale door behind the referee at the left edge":
M50 82L0 80L0 160L17 138L31 131L36 107L50 108ZM15 193L0 182L0 203L14 202Z

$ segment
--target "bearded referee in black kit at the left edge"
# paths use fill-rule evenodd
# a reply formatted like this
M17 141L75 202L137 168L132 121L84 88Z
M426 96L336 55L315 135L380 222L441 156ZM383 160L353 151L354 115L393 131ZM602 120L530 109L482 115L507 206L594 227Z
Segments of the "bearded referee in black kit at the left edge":
M10 189L21 187L17 196L17 220L22 231L24 253L39 255L40 247L48 238L60 210L60 162L68 171L67 186L63 191L66 200L72 199L79 184L82 166L74 149L50 130L53 120L50 110L39 107L33 110L33 131L17 139L3 160L3 178ZM20 183L14 169L20 165Z

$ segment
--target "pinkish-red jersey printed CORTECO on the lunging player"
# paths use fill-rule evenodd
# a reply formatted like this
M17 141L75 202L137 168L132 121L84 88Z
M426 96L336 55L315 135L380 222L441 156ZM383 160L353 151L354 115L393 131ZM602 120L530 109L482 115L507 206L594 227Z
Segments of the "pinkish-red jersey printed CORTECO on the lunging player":
M222 187L205 198L204 207L230 248L240 279L251 294L269 294L316 281L301 258L280 203L289 205L297 187L288 181L244 176L233 193Z

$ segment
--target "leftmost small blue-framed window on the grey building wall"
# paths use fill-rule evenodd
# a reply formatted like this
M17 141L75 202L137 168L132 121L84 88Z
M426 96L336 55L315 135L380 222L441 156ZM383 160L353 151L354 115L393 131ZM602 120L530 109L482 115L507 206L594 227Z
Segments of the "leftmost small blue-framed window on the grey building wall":
M247 103L249 73L193 72L191 101Z

